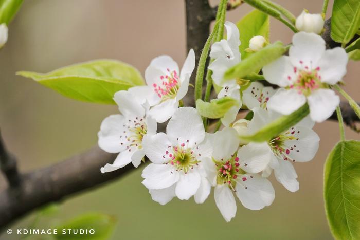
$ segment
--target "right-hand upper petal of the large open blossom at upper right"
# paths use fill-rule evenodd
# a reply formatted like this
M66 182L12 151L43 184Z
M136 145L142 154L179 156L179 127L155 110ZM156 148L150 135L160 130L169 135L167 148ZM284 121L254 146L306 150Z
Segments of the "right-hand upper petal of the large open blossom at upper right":
M344 48L336 47L326 50L318 62L318 71L321 76L321 82L336 84L343 79L346 74L346 65L348 64L348 54Z

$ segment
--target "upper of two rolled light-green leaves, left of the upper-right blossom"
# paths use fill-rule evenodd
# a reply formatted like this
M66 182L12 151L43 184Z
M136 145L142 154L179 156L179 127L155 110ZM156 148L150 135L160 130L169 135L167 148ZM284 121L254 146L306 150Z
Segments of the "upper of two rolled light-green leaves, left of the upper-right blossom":
M287 47L281 42L275 42L274 44L267 45L261 50L250 54L246 59L238 63L237 65L229 68L224 75L225 79L240 78L244 79L246 75L254 73L261 69L263 66L276 60L283 53L285 53Z

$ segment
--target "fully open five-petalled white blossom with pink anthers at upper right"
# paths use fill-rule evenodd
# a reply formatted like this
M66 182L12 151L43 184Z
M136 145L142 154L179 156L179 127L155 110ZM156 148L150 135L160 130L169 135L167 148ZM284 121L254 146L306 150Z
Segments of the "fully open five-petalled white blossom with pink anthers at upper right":
M346 73L348 55L343 48L325 49L325 41L315 33L293 36L289 56L263 67L265 79L280 88L267 102L267 108L289 115L308 102L310 117L316 122L328 119L340 99L329 88Z

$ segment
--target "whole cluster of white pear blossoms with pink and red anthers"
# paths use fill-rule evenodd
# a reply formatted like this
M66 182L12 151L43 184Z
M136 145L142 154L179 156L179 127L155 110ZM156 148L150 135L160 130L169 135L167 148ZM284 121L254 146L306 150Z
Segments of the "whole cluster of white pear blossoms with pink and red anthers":
M310 16L301 17L308 21ZM331 85L345 75L348 59L343 48L326 50L319 35L299 32L293 37L289 56L262 68L264 78L279 88L257 81L239 86L237 79L223 78L227 69L241 61L238 28L230 22L225 28L227 39L212 45L209 66L214 83L222 87L217 97L237 102L221 118L222 130L207 133L197 109L179 107L195 67L190 50L181 71L169 56L157 57L146 69L146 86L116 93L121 114L105 118L98 136L103 150L119 153L113 164L101 168L102 173L130 162L138 167L147 156L151 163L142 172L142 184L154 201L165 205L174 197L188 200L193 196L202 203L214 187L215 203L230 221L237 211L235 196L251 210L272 204L275 191L267 178L273 170L287 190L299 189L294 165L314 158L320 139L312 128L339 104ZM262 36L255 36L249 53L266 44ZM306 103L310 115L286 131L263 142L244 138ZM241 107L251 110L253 117L237 120ZM166 133L156 133L157 123L167 120Z

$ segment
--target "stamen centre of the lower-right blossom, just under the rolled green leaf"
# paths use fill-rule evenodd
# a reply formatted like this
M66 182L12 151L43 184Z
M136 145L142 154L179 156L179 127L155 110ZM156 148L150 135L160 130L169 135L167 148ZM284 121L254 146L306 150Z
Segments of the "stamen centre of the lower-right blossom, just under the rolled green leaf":
M286 146L285 142L289 140L299 140L296 134L299 134L300 131L296 131L294 127L291 128L290 131L279 135L278 137L273 138L269 141L269 146L271 147L273 153L283 160L291 160L295 162L295 159L289 157L291 151L299 152L299 149L296 149L296 145Z

